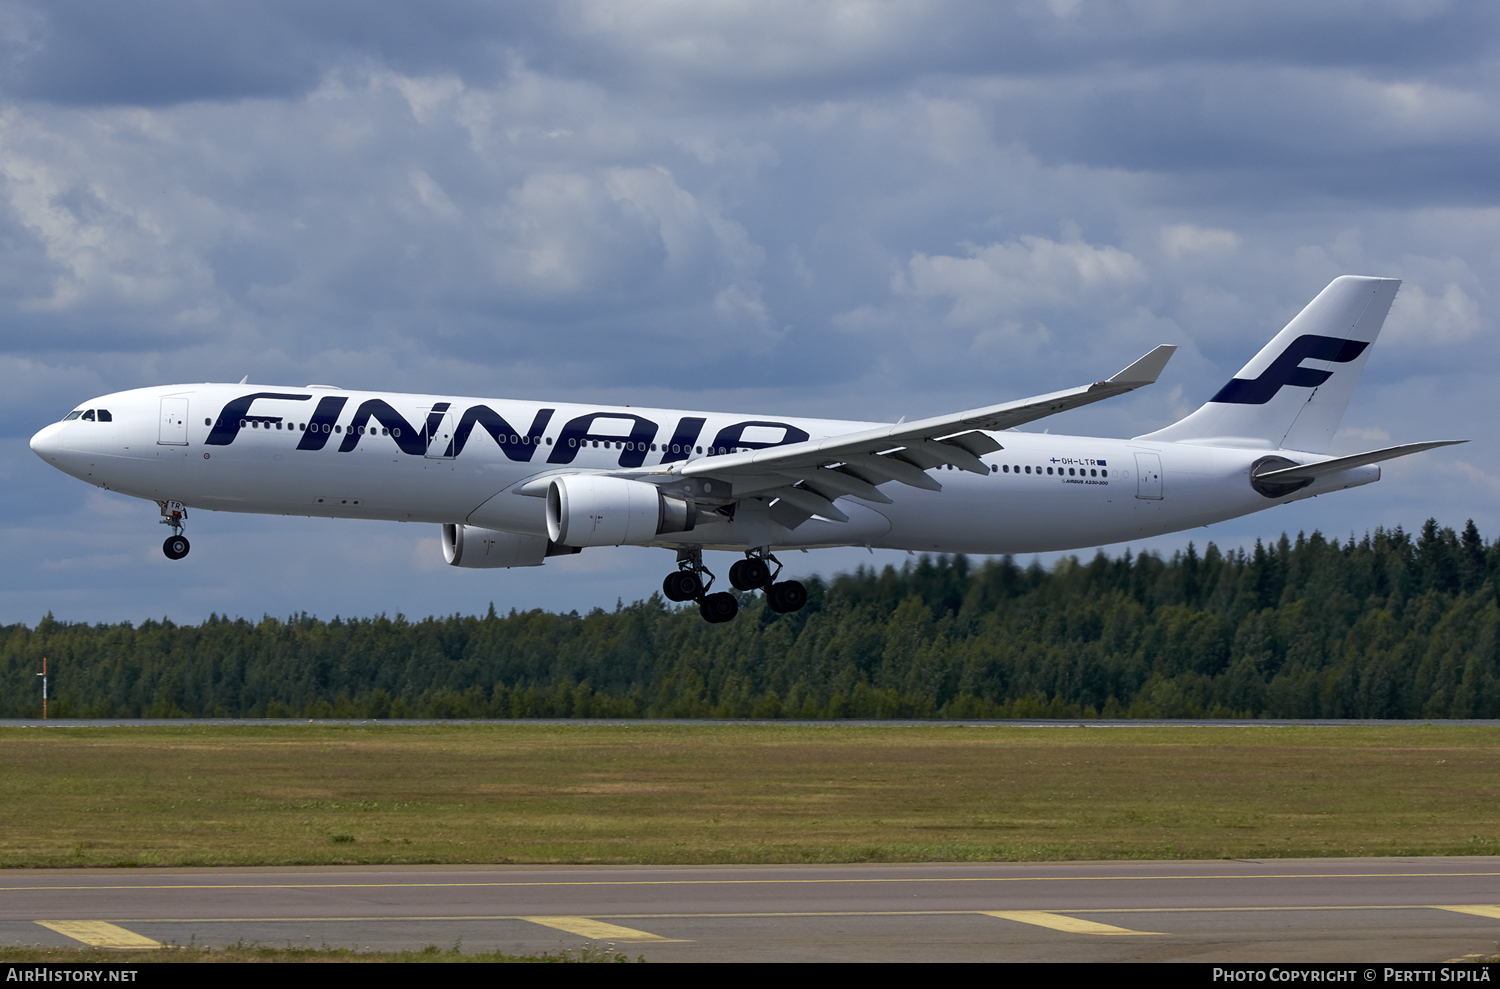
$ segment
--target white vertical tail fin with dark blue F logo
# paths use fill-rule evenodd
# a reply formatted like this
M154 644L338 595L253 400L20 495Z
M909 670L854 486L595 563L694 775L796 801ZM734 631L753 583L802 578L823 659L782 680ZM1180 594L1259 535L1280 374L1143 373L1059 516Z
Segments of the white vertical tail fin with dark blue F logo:
M1202 408L1136 438L1326 453L1400 287L1335 278Z

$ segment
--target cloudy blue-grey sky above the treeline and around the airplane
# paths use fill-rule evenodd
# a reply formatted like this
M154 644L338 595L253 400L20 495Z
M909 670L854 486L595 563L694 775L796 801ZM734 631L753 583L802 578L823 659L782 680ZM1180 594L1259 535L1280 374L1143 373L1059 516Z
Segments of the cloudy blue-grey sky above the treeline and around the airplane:
M1131 549L1494 539L1497 45L1500 6L1446 0L0 0L0 621L586 612L672 569L464 570L435 525L213 512L172 563L154 504L27 449L94 395L894 422L1176 344L1035 425L1131 437L1338 275L1404 284L1335 450L1472 443Z

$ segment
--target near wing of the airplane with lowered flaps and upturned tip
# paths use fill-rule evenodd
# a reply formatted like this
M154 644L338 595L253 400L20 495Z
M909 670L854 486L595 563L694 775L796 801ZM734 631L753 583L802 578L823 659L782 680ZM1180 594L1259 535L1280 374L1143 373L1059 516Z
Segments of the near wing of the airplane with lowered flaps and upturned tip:
M728 479L735 497L774 495L780 501L772 506L772 518L788 528L813 515L844 522L848 516L832 504L836 498L854 495L890 504L891 498L878 489L890 480L942 491L927 471L946 464L988 474L980 458L1004 447L981 429L1010 429L1152 384L1176 350L1156 347L1119 374L1076 389L822 440L705 456L674 467L672 473Z

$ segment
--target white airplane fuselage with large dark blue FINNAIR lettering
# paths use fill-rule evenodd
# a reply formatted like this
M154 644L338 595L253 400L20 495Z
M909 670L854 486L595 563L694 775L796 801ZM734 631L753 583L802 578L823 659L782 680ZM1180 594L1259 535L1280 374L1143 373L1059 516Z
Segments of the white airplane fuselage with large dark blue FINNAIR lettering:
M249 384L117 392L32 441L45 461L110 491L194 509L468 524L544 536L546 501L526 482L558 471L634 471L728 452L836 437L879 423L686 413ZM1368 483L1377 467L1268 498L1250 470L1264 449L1004 431L992 473L936 468L942 491L885 483L891 504L844 497L848 522L777 528L776 546L1011 554L1158 536ZM514 440L512 440L514 437ZM674 453L672 447L678 452ZM682 453L687 450L687 453ZM699 476L699 482L712 476ZM732 498L732 480L714 498ZM744 549L734 522L700 516L652 545Z

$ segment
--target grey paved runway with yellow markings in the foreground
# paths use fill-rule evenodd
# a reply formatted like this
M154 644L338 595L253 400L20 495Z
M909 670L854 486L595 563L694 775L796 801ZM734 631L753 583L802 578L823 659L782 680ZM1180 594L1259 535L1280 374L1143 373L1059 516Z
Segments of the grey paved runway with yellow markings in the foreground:
M1438 962L1500 953L1500 858L15 870L0 944L650 962Z

